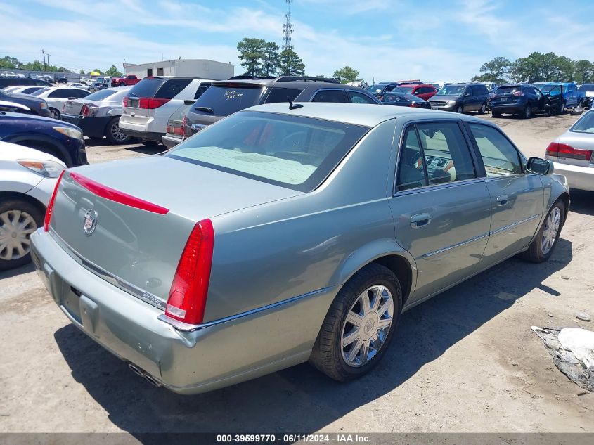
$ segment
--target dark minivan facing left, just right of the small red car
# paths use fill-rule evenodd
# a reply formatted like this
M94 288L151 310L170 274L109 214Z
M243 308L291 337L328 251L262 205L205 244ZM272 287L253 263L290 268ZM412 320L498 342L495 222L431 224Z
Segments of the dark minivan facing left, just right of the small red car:
M489 90L482 84L451 84L437 91L429 99L434 110L469 112L477 111L482 115L489 102Z

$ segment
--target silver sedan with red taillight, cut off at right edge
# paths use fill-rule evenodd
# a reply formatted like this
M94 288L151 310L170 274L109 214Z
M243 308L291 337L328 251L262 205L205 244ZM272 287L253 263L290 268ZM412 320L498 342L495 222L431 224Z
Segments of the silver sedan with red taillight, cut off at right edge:
M594 110L586 112L564 134L551 142L545 157L569 187L594 191Z

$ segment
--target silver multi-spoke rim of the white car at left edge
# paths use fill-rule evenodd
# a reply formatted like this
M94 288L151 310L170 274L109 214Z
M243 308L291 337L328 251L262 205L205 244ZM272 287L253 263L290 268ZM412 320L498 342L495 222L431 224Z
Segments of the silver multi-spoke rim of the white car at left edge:
M31 250L29 236L36 230L37 223L27 212L0 213L0 259L11 261L25 257Z

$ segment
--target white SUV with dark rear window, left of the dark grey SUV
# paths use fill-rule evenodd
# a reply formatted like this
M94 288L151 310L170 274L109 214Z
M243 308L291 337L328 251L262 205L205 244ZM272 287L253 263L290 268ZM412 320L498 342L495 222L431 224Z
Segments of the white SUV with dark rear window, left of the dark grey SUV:
M167 121L183 105L198 98L212 80L193 77L146 77L124 98L120 130L143 142L161 142Z

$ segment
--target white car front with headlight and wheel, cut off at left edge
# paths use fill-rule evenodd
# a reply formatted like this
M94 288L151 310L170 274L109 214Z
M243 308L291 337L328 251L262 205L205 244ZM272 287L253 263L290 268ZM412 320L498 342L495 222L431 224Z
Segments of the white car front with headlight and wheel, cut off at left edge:
M43 226L65 168L57 157L0 141L0 270L30 262L29 236Z

